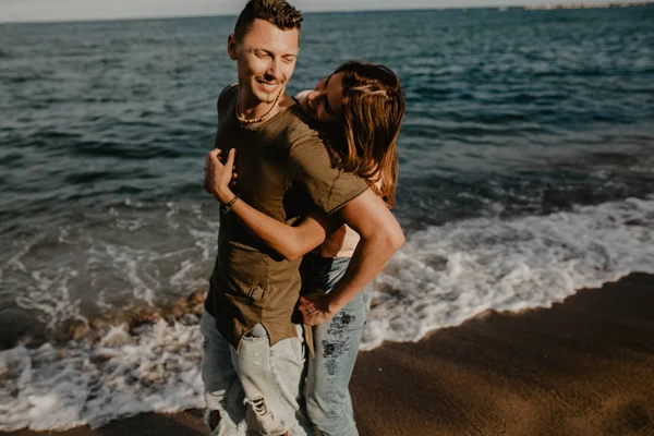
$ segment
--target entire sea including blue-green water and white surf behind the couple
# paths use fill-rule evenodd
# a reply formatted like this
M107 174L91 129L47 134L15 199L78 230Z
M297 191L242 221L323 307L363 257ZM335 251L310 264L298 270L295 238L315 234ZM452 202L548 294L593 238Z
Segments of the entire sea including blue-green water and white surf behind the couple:
M233 23L0 24L1 431L203 405ZM289 90L350 59L407 98L364 349L654 274L652 7L306 14Z

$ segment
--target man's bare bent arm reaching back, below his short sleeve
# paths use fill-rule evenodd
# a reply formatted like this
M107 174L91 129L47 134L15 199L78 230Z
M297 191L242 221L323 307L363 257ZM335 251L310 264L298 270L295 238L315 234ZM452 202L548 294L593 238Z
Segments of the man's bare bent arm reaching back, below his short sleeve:
M317 325L331 319L382 271L404 244L404 233L386 204L366 190L338 213L339 218L361 235L344 276L325 296L300 300L304 323Z

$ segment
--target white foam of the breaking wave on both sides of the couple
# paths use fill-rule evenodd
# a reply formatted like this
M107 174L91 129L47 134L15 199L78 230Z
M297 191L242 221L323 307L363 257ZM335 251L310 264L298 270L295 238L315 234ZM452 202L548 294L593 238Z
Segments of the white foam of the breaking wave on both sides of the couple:
M194 233L197 246L215 241L209 233ZM652 241L654 197L409 234L375 283L363 348L414 341L486 310L546 307L630 271L654 274ZM186 275L183 265L177 275ZM97 427L203 407L197 317L187 314L184 323L132 334L118 326L64 346L0 352L0 431Z

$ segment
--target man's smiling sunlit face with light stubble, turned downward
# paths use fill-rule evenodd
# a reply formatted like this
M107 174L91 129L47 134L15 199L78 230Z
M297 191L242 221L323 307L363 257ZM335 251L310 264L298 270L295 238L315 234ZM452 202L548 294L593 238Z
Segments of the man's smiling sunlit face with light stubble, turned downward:
M275 101L295 69L299 37L298 29L282 31L264 20L255 20L242 40L229 36L228 52L238 64L244 104Z

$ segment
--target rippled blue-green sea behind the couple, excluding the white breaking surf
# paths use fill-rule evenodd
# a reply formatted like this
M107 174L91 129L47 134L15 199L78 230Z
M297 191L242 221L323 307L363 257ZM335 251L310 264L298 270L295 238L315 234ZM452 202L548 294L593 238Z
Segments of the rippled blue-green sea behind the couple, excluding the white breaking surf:
M206 286L233 22L0 25L5 346ZM307 14L289 89L349 59L402 80L409 239L654 193L654 8Z

